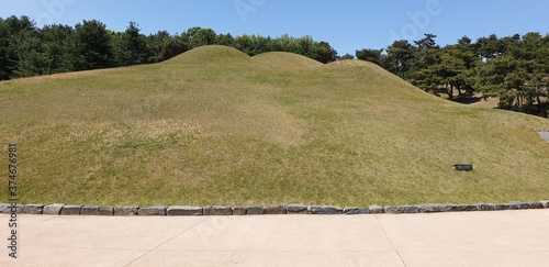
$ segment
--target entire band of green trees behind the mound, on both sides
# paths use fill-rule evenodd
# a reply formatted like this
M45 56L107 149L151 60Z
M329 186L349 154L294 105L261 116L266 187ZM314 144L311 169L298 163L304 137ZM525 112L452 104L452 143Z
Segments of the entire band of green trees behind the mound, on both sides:
M482 92L485 98L500 98L502 109L548 115L548 34L490 35L475 42L463 36L444 47L435 38L435 34L425 34L413 43L400 40L385 49L365 48L339 57L327 42L311 36L232 36L202 27L145 35L135 22L124 32L115 32L97 20L40 29L29 16L10 16L0 18L0 80L158 63L194 47L217 44L250 56L290 52L321 63L358 58L449 100Z

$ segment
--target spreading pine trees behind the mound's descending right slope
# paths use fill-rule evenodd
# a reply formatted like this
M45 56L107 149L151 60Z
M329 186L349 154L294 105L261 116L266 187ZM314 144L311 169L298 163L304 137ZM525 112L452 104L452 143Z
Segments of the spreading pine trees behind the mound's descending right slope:
M435 38L435 34L425 34L412 44L395 41L386 49L356 51L356 57L449 100L481 92L484 98L500 98L501 109L548 116L548 34L492 34L475 42L463 36L444 47Z

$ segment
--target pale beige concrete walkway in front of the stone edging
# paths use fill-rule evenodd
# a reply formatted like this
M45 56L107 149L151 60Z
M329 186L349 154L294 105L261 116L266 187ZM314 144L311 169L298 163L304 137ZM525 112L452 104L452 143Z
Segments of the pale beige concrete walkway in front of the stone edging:
M549 266L549 210L18 220L0 266Z

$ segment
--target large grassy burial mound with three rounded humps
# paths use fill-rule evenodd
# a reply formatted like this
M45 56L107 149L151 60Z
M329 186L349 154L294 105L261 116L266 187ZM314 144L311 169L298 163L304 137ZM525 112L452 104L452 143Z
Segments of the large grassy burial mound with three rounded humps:
M24 203L548 198L549 143L537 134L548 120L448 102L366 62L204 46L160 64L0 82L0 100ZM452 169L461 163L474 171Z

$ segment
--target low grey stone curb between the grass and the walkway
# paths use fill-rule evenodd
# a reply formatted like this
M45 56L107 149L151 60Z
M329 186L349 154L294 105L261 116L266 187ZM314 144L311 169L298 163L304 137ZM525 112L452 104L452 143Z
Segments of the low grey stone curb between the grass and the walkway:
M18 214L45 214L45 215L105 215L105 216L214 216L214 215L274 215L274 214L410 214L410 213L441 213L441 212L469 212L469 211L503 211L549 209L549 200L537 202L509 203L477 203L477 204L418 204L418 205L370 205L361 207L333 207L333 205L304 205L289 204L277 207L221 207L208 205L156 205L141 208L137 205L71 205L71 204L5 204L0 203L0 214L10 214L15 209Z

